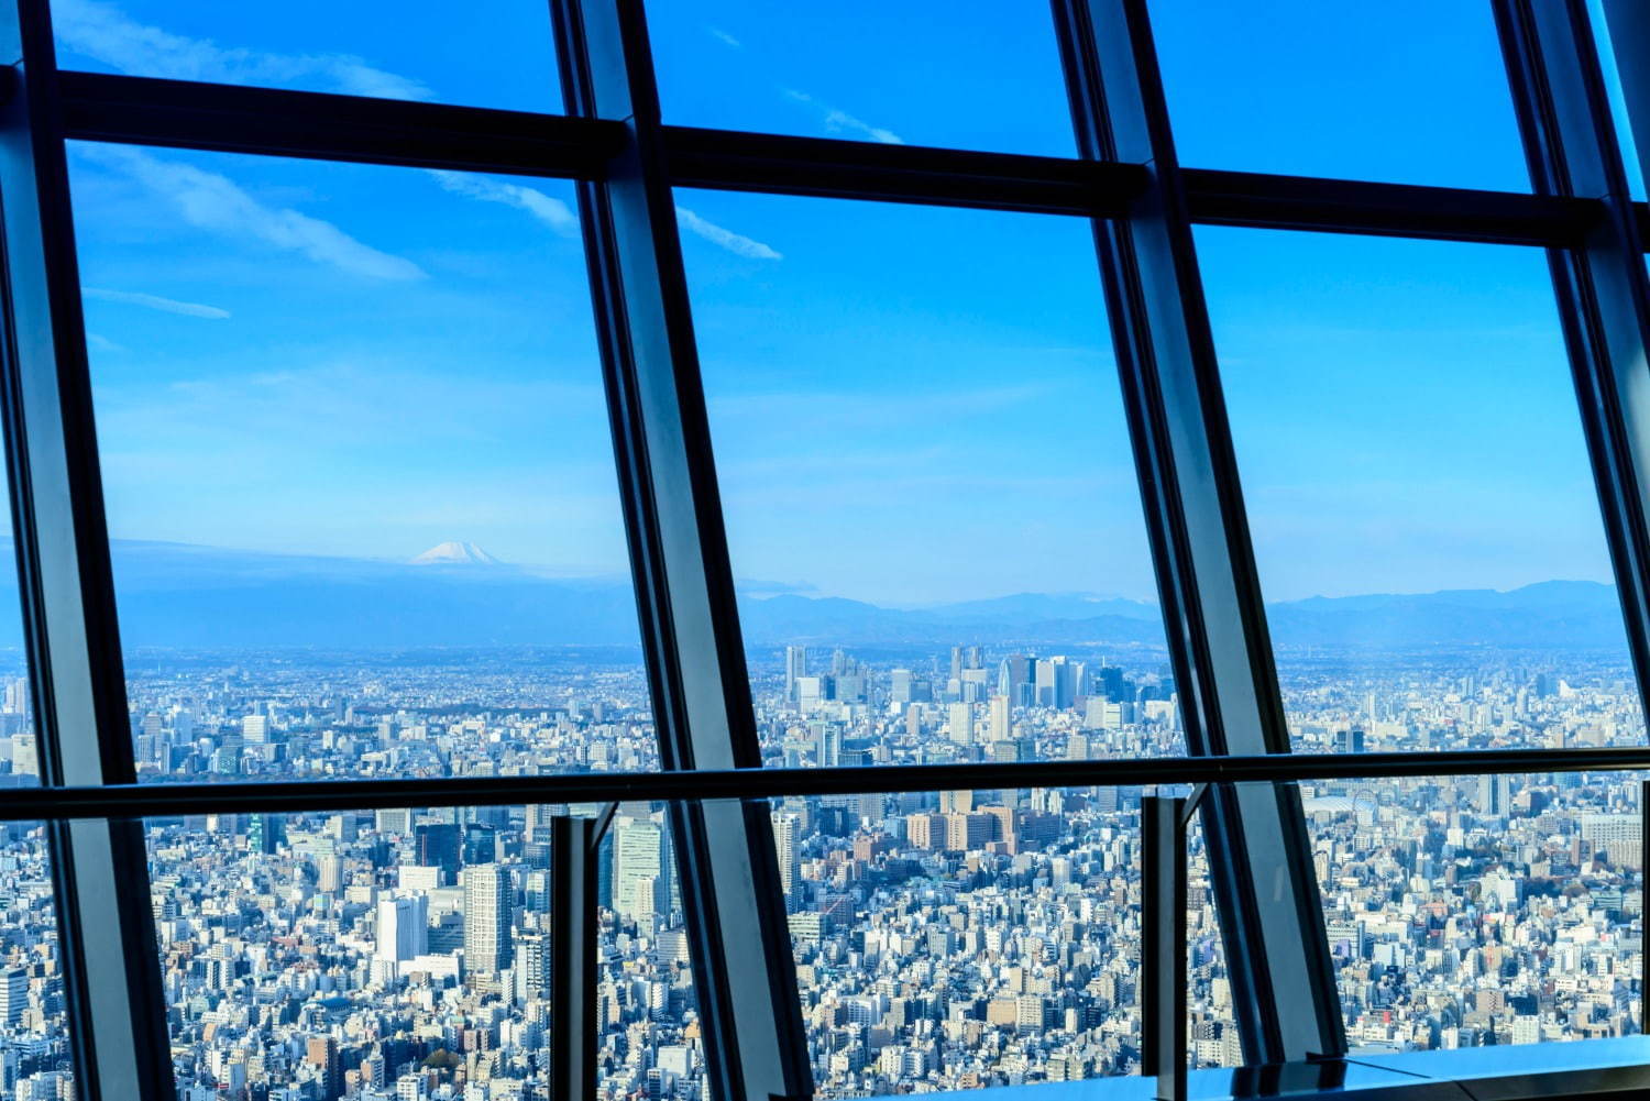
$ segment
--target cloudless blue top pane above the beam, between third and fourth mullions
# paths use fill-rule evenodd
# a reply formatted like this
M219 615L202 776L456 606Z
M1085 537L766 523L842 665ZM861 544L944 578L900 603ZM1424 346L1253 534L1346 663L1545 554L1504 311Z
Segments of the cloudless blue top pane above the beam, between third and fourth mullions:
M1530 188L1488 3L1150 8L1185 165Z

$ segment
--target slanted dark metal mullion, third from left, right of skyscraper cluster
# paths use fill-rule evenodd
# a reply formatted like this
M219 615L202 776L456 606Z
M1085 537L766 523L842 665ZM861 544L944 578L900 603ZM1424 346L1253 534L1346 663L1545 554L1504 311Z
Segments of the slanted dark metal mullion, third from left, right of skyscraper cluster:
M1130 409L1175 683L1195 754L1287 753L1185 188L1145 0L1054 0L1082 157L1145 165L1096 244ZM1346 1048L1312 845L1292 784L1221 784L1204 810L1249 1063Z

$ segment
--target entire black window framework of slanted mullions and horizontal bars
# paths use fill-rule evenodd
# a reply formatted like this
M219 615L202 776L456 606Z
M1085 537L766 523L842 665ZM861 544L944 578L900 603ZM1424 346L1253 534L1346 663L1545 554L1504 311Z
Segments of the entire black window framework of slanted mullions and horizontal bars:
M1643 700L1650 386L1634 383L1650 361L1650 206L1627 191L1586 0L1490 3L1531 193L1181 168L1145 0L1053 0L1072 158L667 125L640 0L549 0L564 116L59 71L48 0L0 7L12 61L0 86L0 414L43 777L10 794L0 820L50 825L78 1088L107 1101L173 1094L145 814L667 801L711 1088L805 1098L812 1071L762 801L1005 784L1213 784L1204 822L1246 1060L1345 1055L1292 782L1650 771L1650 746L1290 753L1191 226L1548 249ZM1638 149L1650 150L1650 17L1635 0L1604 7ZM663 773L135 782L68 140L578 183ZM761 768L670 198L678 187L1092 221L1191 756ZM1284 903L1256 888L1257 868L1274 865L1290 875Z

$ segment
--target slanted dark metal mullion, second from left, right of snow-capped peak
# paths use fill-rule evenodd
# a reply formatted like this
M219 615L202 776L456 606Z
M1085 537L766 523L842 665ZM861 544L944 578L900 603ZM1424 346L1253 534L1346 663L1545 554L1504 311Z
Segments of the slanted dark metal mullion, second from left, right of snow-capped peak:
M627 124L581 185L642 637L667 768L757 768L686 274L642 5L551 5L569 114ZM718 1098L805 1098L812 1071L766 807L672 807Z

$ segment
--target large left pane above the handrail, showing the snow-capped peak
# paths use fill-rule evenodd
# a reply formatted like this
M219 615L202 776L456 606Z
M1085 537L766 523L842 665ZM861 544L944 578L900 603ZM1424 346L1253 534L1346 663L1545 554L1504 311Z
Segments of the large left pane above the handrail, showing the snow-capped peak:
M569 188L73 165L144 776L650 768Z

